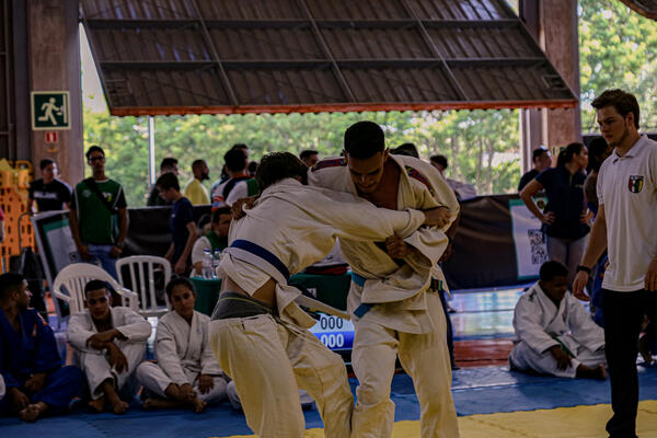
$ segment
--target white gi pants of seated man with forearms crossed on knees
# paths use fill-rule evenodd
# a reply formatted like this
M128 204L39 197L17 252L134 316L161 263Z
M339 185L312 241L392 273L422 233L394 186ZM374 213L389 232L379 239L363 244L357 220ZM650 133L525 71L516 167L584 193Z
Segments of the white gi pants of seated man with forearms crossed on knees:
M111 379L114 381L116 392L122 400L132 399L139 391L139 381L135 370L146 358L146 343L126 343L116 342L128 361L128 369L123 372L116 371L107 360L104 354L91 351L76 350L73 353L73 362L82 368L87 376L89 392L92 400L96 400L105 395L101 383Z

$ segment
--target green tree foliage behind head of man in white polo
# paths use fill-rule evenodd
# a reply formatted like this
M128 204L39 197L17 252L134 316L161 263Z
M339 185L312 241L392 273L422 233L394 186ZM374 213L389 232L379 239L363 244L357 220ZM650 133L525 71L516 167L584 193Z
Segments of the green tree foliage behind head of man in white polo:
M634 93L641 128L657 130L657 23L618 0L579 0L581 125L598 130L590 103L607 89Z

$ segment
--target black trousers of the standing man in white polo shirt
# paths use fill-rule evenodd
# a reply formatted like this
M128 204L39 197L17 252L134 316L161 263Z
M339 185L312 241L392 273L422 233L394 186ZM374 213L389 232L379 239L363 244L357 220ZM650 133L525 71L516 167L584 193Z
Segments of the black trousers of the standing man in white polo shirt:
M607 423L607 431L610 438L636 438L638 335L644 315L657 321L657 292L616 292L603 289L602 309L604 351L613 410L613 416Z

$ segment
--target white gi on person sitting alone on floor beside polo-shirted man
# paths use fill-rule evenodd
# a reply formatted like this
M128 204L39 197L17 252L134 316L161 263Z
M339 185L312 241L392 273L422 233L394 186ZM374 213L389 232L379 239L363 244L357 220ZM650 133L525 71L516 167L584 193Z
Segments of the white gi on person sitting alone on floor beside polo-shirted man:
M566 292L557 309L537 283L516 304L514 330L516 345L509 362L521 371L574 378L579 364L596 367L606 362L604 331L570 292ZM555 345L574 356L565 370L557 368L548 350Z

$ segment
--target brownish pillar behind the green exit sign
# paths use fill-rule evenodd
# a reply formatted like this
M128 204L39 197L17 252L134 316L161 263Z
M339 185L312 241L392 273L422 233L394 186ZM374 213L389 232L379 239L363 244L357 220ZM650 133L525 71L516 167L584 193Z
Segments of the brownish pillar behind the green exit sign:
M49 158L71 185L84 174L78 14L78 0L27 1L30 91L70 93L71 128L58 130L56 143L46 142L45 131L31 129L35 177L39 161Z

